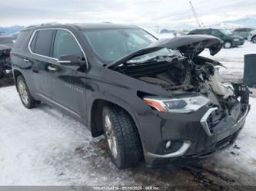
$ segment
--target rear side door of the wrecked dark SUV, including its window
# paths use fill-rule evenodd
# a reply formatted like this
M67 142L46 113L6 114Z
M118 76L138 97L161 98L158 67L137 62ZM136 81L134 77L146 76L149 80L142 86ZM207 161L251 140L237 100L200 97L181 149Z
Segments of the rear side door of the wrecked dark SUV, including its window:
M32 63L32 83L35 93L46 99L50 97L48 67L56 62L56 59L50 57L54 34L54 29L36 30L28 44L28 49L31 51L30 57L25 58L26 62Z

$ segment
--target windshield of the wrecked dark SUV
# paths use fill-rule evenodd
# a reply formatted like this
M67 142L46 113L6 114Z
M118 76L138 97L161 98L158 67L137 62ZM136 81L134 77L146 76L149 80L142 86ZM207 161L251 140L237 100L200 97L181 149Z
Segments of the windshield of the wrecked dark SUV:
M82 34L96 56L105 64L118 61L120 58L141 48L146 48L152 42L157 41L155 37L140 28L95 29L82 31ZM170 54L170 51L163 48L151 53L150 56L158 54Z

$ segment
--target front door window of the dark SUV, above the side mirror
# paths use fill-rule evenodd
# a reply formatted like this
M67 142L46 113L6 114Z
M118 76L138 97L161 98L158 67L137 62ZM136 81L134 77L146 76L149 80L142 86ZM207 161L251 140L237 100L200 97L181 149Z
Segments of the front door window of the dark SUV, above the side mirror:
M82 51L77 41L70 32L65 30L58 30L55 35L55 42L53 45L53 58L59 58L61 55L77 55L82 58Z

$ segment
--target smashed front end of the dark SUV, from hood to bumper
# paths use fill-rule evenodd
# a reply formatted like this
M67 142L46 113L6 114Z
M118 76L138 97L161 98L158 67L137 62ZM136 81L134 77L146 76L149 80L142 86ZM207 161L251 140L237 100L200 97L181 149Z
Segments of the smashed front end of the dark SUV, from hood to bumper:
M145 151L150 165L210 156L234 143L244 126L248 87L221 82L221 63L198 56L204 48L217 54L221 41L207 35L157 41L108 66L171 92L170 97L142 97L165 123L158 145ZM168 54L152 54L162 49Z

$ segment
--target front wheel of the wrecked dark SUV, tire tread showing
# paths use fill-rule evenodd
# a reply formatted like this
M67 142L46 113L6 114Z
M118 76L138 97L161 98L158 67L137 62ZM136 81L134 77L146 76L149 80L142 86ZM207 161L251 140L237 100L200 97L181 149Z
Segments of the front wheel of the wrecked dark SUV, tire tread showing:
M105 106L102 124L108 153L115 166L120 170L138 166L143 159L143 150L135 122L128 113L119 107Z

